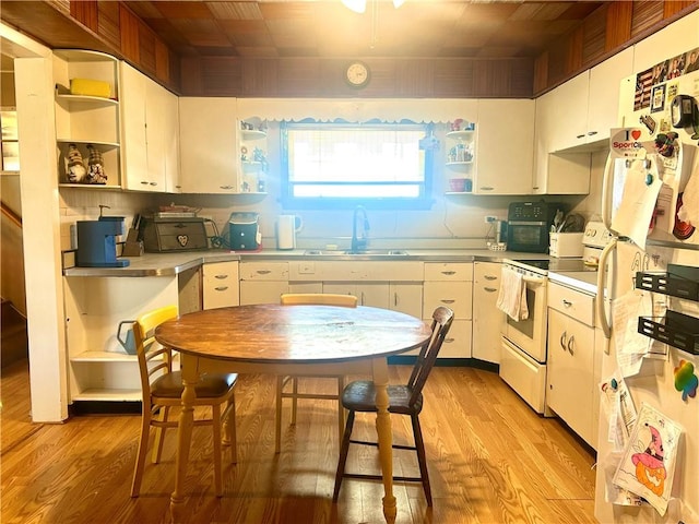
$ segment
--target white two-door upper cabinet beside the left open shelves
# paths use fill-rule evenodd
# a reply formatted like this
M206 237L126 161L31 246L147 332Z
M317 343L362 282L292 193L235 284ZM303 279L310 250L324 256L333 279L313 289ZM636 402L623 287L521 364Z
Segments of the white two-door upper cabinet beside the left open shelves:
M174 94L121 62L125 189L176 190L179 178L176 100Z

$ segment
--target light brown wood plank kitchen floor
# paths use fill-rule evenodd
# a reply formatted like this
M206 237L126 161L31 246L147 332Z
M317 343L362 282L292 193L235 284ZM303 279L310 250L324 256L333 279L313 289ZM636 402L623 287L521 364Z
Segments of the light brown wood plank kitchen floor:
M410 368L391 367L391 380ZM322 388L317 381L311 386ZM332 404L285 412L283 450L274 454L274 379L241 377L237 386L238 464L213 493L210 428L196 428L187 478L187 522L381 523L380 484L346 479L332 503L337 431ZM164 460L146 462L142 495L129 497L140 416L83 415L62 425L29 421L26 364L3 370L3 524L169 522L175 433ZM534 414L497 374L435 368L420 416L434 508L417 485L396 485L398 523L594 523L594 454L556 419ZM394 441L410 442L410 420L393 416ZM370 418L355 431L369 437ZM359 434L355 433L355 434ZM351 450L347 469L377 468L376 450ZM394 453L395 474L417 474L412 452ZM401 472L401 473L399 473Z

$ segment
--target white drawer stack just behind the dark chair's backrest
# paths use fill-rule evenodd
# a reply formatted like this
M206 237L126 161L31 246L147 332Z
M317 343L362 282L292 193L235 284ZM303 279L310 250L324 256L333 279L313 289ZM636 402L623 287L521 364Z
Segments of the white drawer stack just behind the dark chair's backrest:
M425 322L431 322L439 306L454 312L449 342L445 341L439 358L471 358L473 264L427 262L423 286Z

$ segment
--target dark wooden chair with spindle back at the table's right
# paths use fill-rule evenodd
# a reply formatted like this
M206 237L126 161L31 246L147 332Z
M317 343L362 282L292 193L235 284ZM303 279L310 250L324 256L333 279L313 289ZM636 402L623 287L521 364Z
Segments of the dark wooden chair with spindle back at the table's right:
M419 427L419 413L423 410L423 386L427 382L429 372L431 371L441 344L449 333L451 322L453 320L453 311L449 308L439 307L433 313L433 335L419 352L411 378L405 385L389 385L389 413L398 415L408 415L413 422L413 437L415 445L398 445L394 449L413 450L417 452L417 462L419 464L419 477L393 477L395 481L420 481L425 490L427 505L433 505L433 496L429 488L429 476L427 475L427 462L425 460L425 442L423 441L423 432ZM376 442L366 442L360 440L352 440L352 427L354 425L355 413L376 413L376 390L374 382L360 380L351 382L342 393L342 405L350 412L347 415L347 425L345 427L344 438L342 439L342 448L340 450L340 461L337 463L337 473L335 475L335 490L333 492L333 501L337 501L342 479L348 478L370 478L381 480L381 475L353 474L345 473L347 462L347 452L350 444L364 444L378 446Z

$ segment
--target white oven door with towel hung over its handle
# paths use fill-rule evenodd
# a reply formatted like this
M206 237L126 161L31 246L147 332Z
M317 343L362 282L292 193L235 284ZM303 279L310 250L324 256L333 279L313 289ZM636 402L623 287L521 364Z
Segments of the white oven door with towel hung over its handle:
M506 337L537 362L546 361L546 277L525 276L529 318L507 317Z

